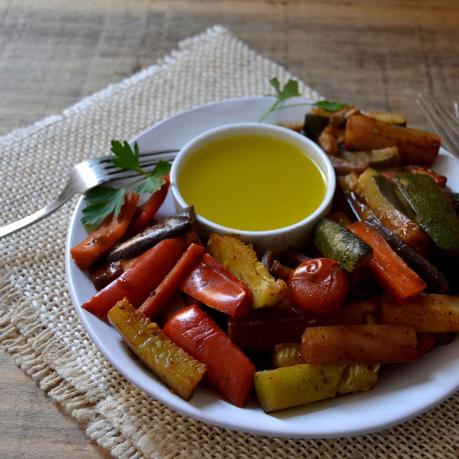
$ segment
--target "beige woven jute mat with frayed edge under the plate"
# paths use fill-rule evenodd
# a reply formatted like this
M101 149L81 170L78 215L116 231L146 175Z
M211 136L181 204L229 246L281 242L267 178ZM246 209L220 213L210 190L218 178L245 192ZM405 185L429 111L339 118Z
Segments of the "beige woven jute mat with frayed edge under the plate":
M61 115L0 138L0 224L48 203L72 166L106 154L111 139L129 139L196 104L265 94L274 75L290 76L216 26ZM181 416L144 395L97 350L67 294L64 243L75 202L0 241L0 344L115 457L459 457L457 395L393 429L335 440L228 431Z

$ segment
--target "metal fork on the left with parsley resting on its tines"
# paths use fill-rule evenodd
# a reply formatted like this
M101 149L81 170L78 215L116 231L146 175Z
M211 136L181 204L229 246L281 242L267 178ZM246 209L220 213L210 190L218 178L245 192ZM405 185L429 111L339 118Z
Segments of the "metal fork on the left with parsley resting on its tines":
M174 159L178 151L179 150L162 150L140 153L140 166L142 169L148 171L160 160L169 161ZM91 188L102 185L103 183L128 179L137 175L134 171L124 171L114 166L112 163L113 158L114 156L101 156L77 164L70 173L67 185L51 204L34 212L28 217L1 226L0 239L52 214L75 194L83 194Z

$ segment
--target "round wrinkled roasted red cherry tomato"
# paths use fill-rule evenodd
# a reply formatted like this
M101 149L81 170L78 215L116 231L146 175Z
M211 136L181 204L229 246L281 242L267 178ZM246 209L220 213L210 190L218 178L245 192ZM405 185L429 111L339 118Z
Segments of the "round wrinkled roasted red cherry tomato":
M288 281L291 303L316 314L336 311L343 304L348 291L346 274L330 258L306 260L293 271Z

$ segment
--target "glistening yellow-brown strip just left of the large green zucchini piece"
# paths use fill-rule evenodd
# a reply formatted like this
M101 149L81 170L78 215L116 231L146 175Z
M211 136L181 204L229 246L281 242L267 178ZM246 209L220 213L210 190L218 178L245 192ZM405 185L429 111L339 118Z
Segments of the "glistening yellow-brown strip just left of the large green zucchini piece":
M358 178L355 191L365 200L384 226L419 252L427 252L429 245L427 234L401 211L403 205L398 200L389 180L374 169L367 169Z

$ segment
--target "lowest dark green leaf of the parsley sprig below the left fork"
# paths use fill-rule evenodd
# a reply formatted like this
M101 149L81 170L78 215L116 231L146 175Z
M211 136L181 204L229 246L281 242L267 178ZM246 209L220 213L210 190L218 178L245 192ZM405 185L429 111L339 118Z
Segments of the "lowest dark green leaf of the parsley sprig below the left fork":
M126 190L124 188L110 188L98 186L85 194L86 207L83 209L81 223L88 229L94 230L110 214L115 217L121 212Z

